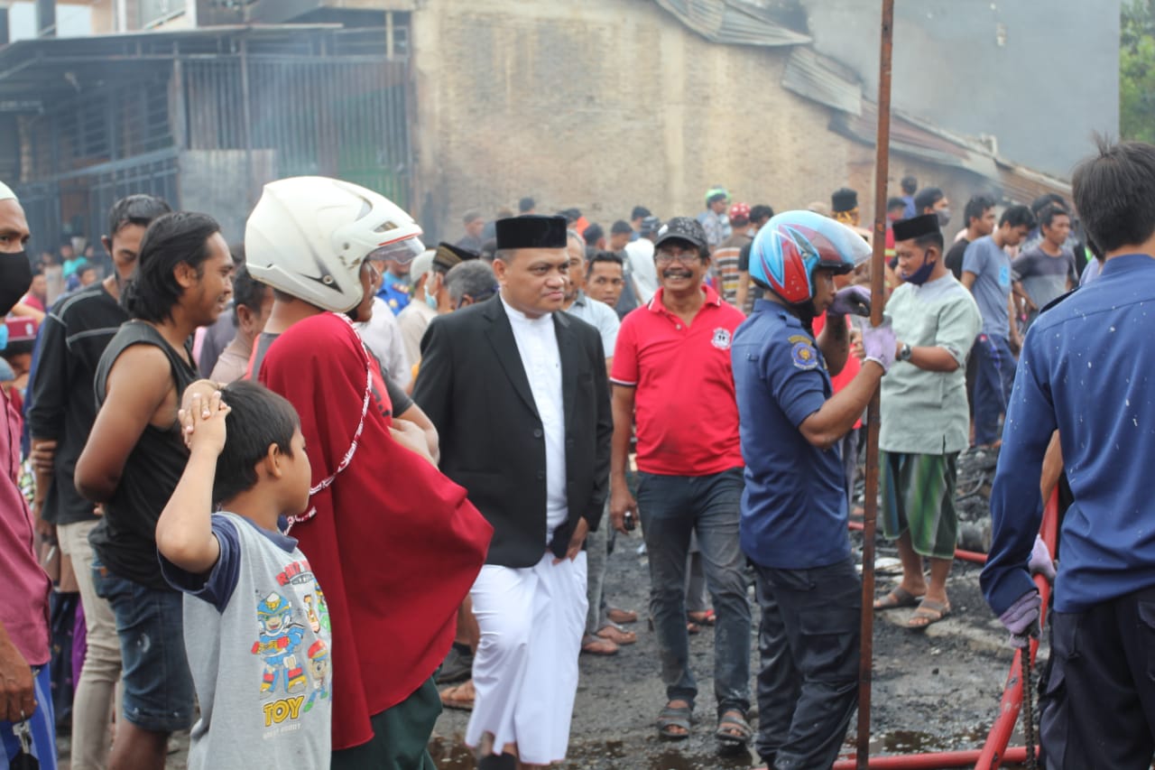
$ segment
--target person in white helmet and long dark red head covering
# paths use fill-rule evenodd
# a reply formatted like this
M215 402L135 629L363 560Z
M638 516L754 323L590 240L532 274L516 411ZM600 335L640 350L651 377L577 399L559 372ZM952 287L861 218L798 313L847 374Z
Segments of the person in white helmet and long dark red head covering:
M320 177L266 185L245 231L248 269L275 296L251 370L300 414L313 467L290 526L333 622L334 770L434 767L432 676L492 533L422 431L393 422L351 325L372 312L372 260L412 259L420 232L381 195Z

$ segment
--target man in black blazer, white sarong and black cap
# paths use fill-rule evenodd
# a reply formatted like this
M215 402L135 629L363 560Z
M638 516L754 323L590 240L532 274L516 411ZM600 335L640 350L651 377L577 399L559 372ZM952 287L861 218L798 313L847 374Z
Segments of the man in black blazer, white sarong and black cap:
M465 740L486 767L565 758L586 616L586 534L602 518L613 430L597 331L561 312L566 225L497 222L500 294L434 319L413 399L441 469L493 525L471 592L482 641ZM509 764L507 764L509 763Z

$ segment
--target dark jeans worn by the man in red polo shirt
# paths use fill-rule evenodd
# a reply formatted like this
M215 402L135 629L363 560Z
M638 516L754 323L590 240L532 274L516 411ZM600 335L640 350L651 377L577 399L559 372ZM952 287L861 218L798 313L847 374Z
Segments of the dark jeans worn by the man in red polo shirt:
M718 712L750 708L750 602L746 557L738 542L743 469L708 476L639 473L638 512L650 568L650 616L657 632L666 697L693 705L698 684L690 671L686 631L686 555L690 533L706 568L714 602L714 696Z

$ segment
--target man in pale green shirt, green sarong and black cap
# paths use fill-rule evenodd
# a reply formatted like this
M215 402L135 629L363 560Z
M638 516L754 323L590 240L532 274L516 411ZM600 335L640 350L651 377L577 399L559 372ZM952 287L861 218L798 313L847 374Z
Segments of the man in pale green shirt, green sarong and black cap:
M897 342L881 390L880 518L882 533L897 541L902 580L874 609L915 607L907 625L921 630L951 613L955 460L970 427L964 364L982 317L942 259L938 215L896 222L894 239L903 282L886 304Z

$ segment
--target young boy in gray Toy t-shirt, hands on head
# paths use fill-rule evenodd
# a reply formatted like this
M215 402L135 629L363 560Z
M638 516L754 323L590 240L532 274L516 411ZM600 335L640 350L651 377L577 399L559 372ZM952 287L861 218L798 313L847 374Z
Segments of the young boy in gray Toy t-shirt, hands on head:
M328 609L297 541L277 526L308 504L299 419L289 401L246 380L219 392L195 383L185 407L188 465L156 542L165 579L186 594L185 646L201 705L188 767L327 768Z

